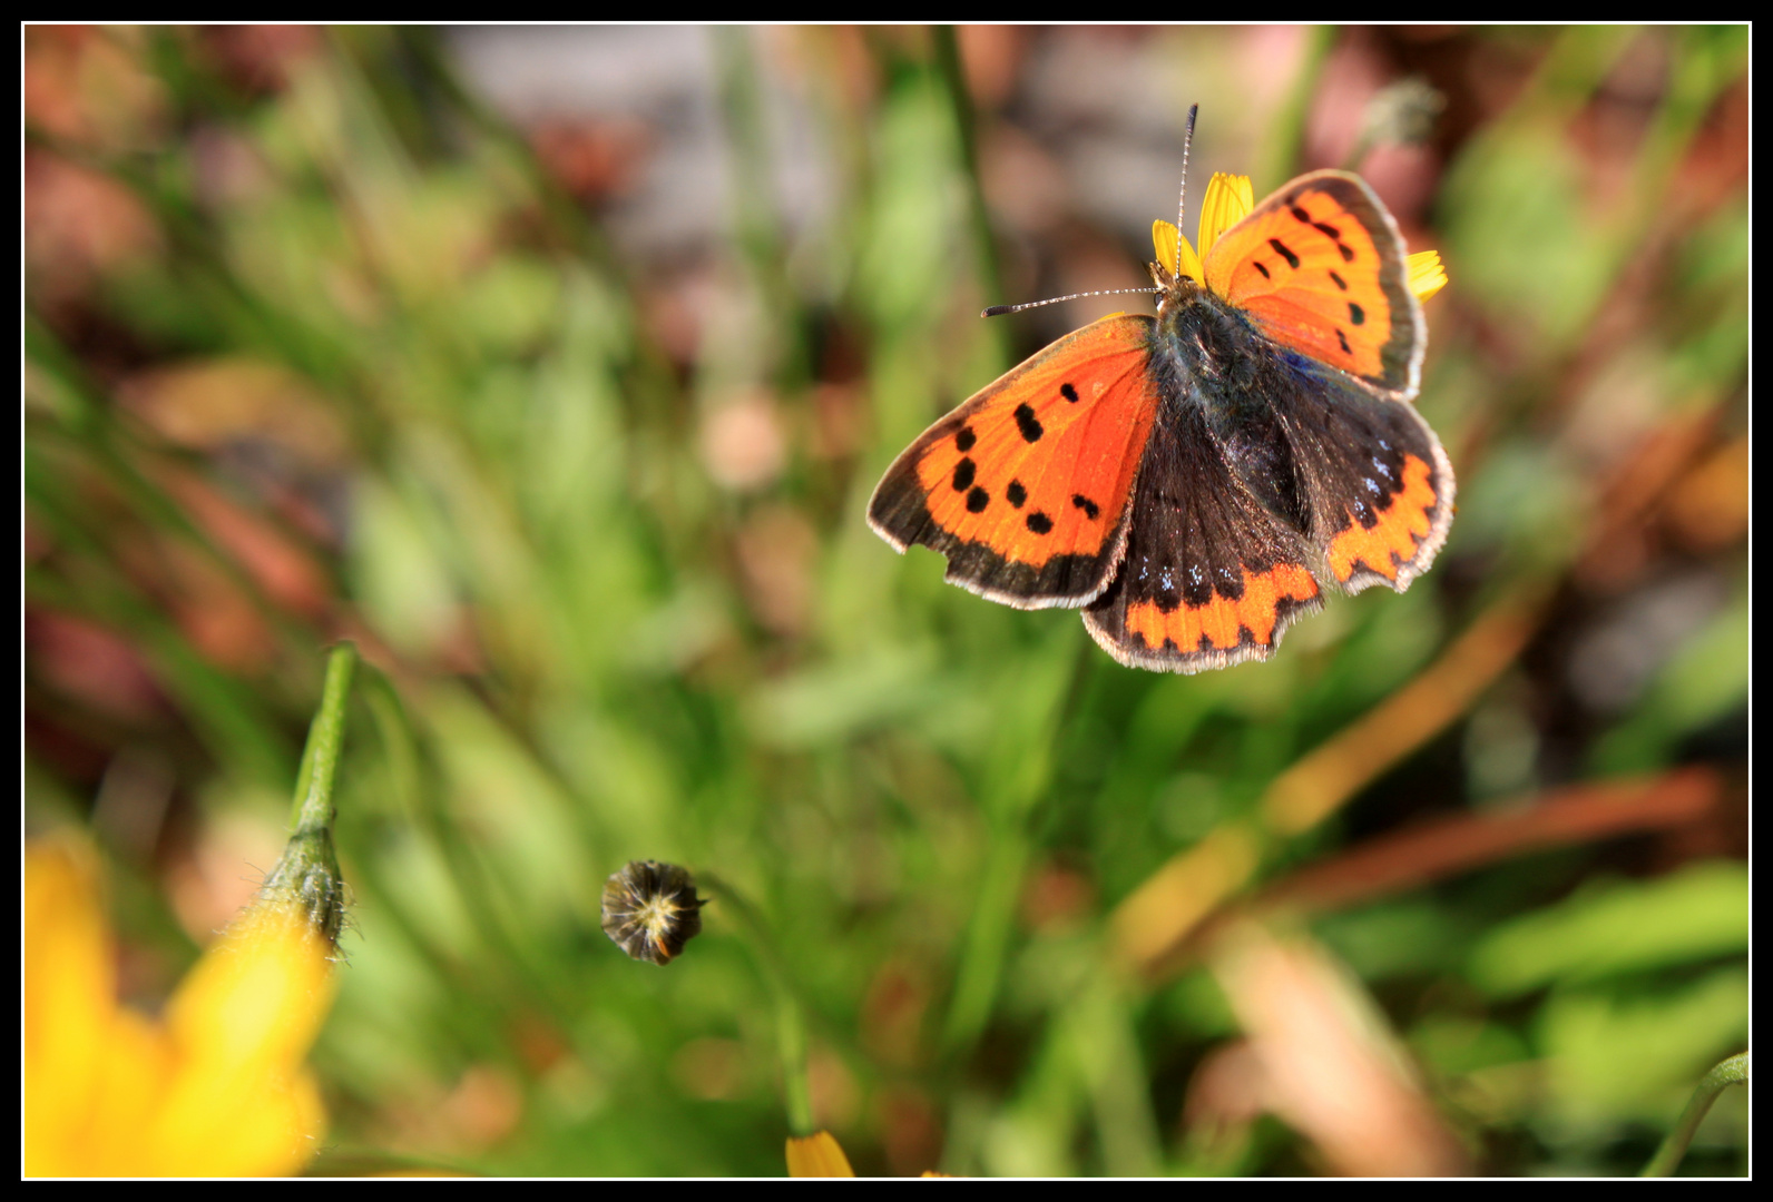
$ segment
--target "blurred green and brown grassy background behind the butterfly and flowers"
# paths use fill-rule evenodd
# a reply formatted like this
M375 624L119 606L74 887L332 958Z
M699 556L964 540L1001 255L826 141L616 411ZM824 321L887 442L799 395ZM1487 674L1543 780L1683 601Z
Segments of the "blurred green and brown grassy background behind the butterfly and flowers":
M312 1172L1626 1174L1746 1046L1746 28L23 37L25 830L152 1009L367 665ZM1459 516L1144 674L863 519L1215 170L1450 287ZM1193 239L1193 215L1184 232ZM730 909L730 908L729 908ZM1683 1172L1746 1167L1743 1090Z

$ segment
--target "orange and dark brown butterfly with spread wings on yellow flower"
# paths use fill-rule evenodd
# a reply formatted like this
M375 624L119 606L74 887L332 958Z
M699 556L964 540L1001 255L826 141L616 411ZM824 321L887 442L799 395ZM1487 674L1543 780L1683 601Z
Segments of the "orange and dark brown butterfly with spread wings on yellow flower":
M1408 255L1339 170L1255 206L1248 179L1215 176L1202 211L1199 255L1152 227L1156 317L1035 353L924 431L869 502L869 525L943 553L950 583L1082 606L1108 654L1160 672L1269 658L1326 583L1402 592L1454 512L1452 464L1411 404L1427 342L1411 271L1438 257Z

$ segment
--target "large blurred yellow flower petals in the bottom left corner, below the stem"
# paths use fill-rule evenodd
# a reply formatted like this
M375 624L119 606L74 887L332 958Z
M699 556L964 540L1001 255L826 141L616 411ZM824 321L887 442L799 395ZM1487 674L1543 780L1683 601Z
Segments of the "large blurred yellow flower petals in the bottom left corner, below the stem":
M160 1021L117 1005L92 856L25 851L25 1175L271 1175L326 1126L309 1044L332 945L259 901L204 952Z

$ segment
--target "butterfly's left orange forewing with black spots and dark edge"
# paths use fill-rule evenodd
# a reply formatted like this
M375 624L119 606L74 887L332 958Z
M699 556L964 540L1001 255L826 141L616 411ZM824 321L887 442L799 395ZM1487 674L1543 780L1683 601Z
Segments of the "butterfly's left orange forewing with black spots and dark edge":
M941 551L949 581L1004 605L1096 599L1158 415L1151 328L1103 317L979 390L894 461L869 525L899 551Z

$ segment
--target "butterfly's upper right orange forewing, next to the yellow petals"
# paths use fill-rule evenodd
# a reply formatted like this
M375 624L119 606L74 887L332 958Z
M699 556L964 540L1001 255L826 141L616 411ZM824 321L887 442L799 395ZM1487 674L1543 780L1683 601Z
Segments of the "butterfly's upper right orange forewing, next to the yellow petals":
M1425 328L1397 223L1347 172L1300 176L1207 250L1206 284L1273 342L1417 395Z

